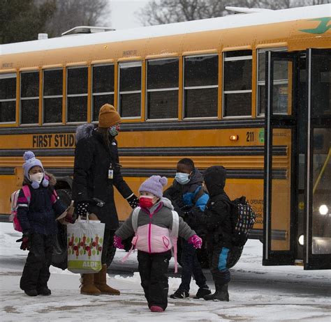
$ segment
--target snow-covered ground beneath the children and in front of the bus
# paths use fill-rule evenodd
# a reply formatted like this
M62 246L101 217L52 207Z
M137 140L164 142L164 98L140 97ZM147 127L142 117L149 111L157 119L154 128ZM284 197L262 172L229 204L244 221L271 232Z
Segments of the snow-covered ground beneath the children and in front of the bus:
M331 321L330 270L262 266L258 240L247 242L242 258L231 270L230 302L194 300L197 287L192 282L191 298L169 298L165 312L152 313L138 273L110 275L108 284L119 289L120 296L83 296L78 275L51 266L52 296L26 296L19 283L27 252L20 250L17 238L20 233L10 223L0 223L1 321ZM114 266L135 268L136 254L122 264L119 260L124 254L117 252ZM173 262L170 270L173 272ZM170 277L169 293L179 284L179 278Z

